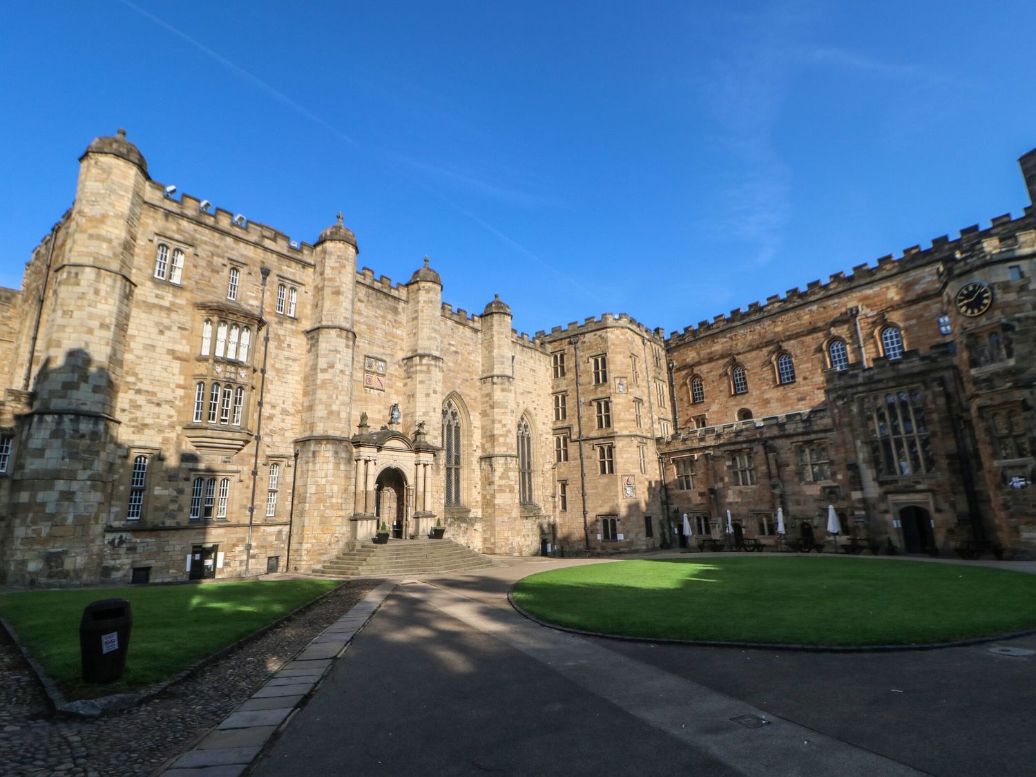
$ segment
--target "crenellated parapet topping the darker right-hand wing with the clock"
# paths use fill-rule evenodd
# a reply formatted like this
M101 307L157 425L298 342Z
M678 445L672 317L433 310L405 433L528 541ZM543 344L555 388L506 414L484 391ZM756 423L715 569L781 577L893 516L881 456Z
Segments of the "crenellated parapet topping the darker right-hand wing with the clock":
M970 265L984 261L991 255L1002 251L1012 253L1036 250L1036 224L1026 231L1021 229L1025 221L1032 221L1031 209L1027 208L1025 215L1012 219L1010 213L995 217L990 226L980 230L979 226L971 225L959 230L959 236L950 239L940 235L931 239L931 246L922 249L911 246L902 250L899 257L892 254L880 257L873 264L864 262L853 267L846 275L844 271L832 274L827 283L819 280L810 281L806 288L795 287L784 292L784 296L774 294L767 297L766 303L749 303L747 309L736 308L727 314L714 316L699 321L696 326L685 326L681 332L669 333L666 339L667 347L709 337L724 329L748 321L758 320L774 313L783 312L801 305L816 303L825 297L859 289L867 284L887 279L898 272L903 272L928 264L942 263L952 271L954 264ZM571 328L573 324L569 324ZM555 327L554 332L559 330Z

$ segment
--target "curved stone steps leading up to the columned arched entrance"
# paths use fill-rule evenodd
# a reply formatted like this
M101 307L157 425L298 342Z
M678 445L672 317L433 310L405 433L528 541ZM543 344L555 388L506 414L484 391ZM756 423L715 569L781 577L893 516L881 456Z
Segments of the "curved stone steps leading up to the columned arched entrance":
M325 577L397 577L430 572L466 572L492 562L451 540L390 540L387 545L365 542L313 570Z

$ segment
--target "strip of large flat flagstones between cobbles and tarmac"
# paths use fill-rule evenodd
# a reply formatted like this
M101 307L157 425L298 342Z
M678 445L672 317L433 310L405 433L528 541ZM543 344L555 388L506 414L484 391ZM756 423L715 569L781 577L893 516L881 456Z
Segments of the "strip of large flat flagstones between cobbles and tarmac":
M243 774L262 749L284 730L341 658L353 637L378 611L396 588L386 580L348 612L324 629L266 684L238 704L197 744L171 758L153 774L155 777L236 777Z

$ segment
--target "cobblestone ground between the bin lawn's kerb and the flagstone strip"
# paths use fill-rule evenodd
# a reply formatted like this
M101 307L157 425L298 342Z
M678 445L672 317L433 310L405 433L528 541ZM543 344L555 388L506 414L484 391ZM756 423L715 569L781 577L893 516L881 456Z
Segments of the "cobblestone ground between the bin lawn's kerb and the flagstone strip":
M55 716L0 630L0 775L148 775L220 722L380 580L352 580L303 614L132 710Z

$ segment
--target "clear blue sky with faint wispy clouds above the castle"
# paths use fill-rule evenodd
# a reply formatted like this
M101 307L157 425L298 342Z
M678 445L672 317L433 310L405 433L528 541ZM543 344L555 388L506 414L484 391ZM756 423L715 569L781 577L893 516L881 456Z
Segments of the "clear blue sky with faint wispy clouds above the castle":
M0 285L119 126L151 175L534 333L668 333L1003 212L1036 3L18 3Z

